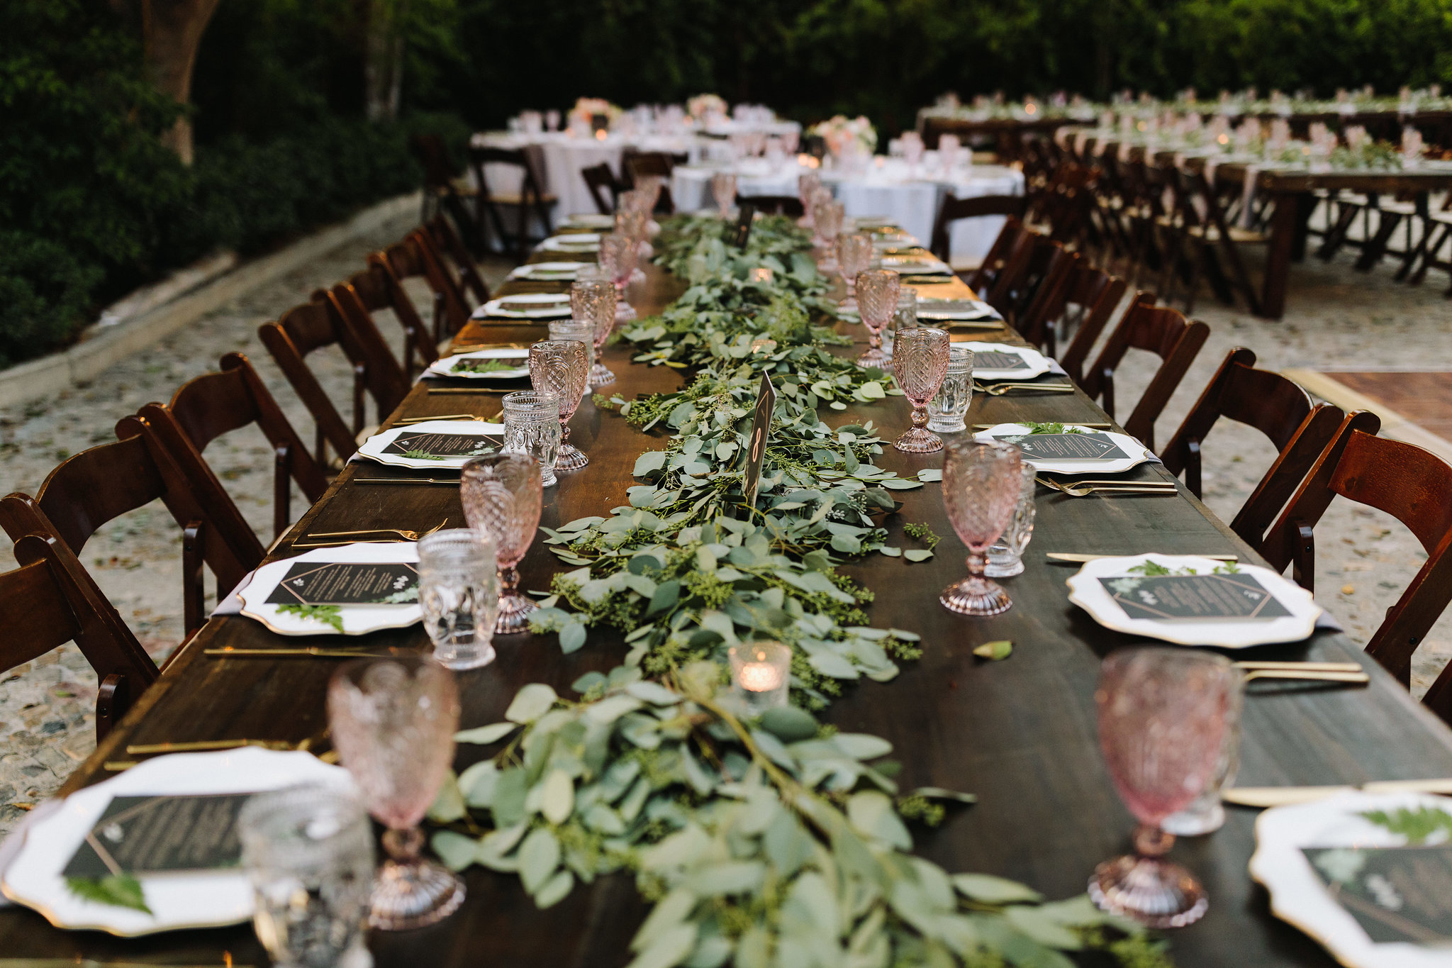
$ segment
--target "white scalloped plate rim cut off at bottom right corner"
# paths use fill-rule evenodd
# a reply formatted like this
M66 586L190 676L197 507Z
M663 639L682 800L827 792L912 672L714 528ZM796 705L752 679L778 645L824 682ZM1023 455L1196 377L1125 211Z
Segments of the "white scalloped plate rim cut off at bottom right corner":
M1433 807L1452 813L1452 800L1432 794L1346 792L1307 804L1275 807L1256 819L1250 877L1270 893L1270 911L1326 946L1347 968L1452 968L1452 949L1376 943L1331 900L1301 848L1397 848L1400 834L1365 817L1368 810Z

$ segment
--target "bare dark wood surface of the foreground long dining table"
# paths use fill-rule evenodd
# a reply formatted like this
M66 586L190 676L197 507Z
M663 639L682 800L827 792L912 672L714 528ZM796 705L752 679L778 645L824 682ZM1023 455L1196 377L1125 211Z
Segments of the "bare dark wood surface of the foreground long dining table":
M655 268L643 292L633 296L642 312L669 302L675 280ZM523 290L513 283L505 292ZM539 289L539 286L530 286ZM540 327L470 327L465 343L533 338ZM860 332L860 331L858 331ZM974 337L982 338L982 337ZM1002 337L1009 340L1011 337ZM619 374L614 389L630 396L678 386L681 374L666 367L629 363L629 351L611 347L605 361ZM492 395L433 395L415 386L398 417L472 411L491 415ZM908 427L908 405L889 398L845 412L823 411L833 422L868 418L892 438ZM1016 419L1102 421L1102 411L1082 393L980 396L970 422ZM639 453L659 448L658 435L642 435L619 415L584 403L574 418L574 440L590 466L560 475L546 491L543 522L558 525L624 505L630 470ZM902 454L892 448L880 464L909 476L941 467L942 454ZM395 472L367 463L350 464L322 499L308 511L293 536L315 530L363 527L428 528L444 515L462 521L459 495L449 488L360 486L360 476ZM1163 467L1141 466L1138 477L1167 479ZM1128 848L1133 820L1121 805L1101 760L1095 734L1093 688L1101 657L1128 637L1096 625L1066 601L1072 567L1048 565L1044 551L1237 553L1256 560L1204 505L1188 492L1178 498L1069 498L1041 493L1038 525L1022 575L1005 579L1013 608L993 618L951 614L935 601L941 588L964 575L963 547L944 514L939 485L896 492L903 508L890 517L892 543L916 547L903 536L908 522L926 522L944 536L934 559L909 565L868 556L847 572L877 594L870 607L880 627L922 636L923 656L903 665L889 684L849 686L825 718L844 730L887 737L903 765L900 782L973 791L979 804L957 810L937 832L919 836L919 850L950 871L986 871L1025 881L1050 897L1085 890L1093 866ZM283 544L277 556L287 556ZM547 588L559 570L536 544L521 572L524 588ZM984 663L971 655L983 641L1009 639L1013 655ZM318 640L319 643L328 640ZM620 637L592 631L588 644L560 655L553 636L505 636L495 640L492 665L460 675L463 724L502 718L515 689L547 682L566 689L581 673L605 670L624 655ZM337 660L216 659L213 647L296 644L242 618L211 621L196 641L166 670L110 737L83 763L65 791L103 779L105 760L123 759L128 743L200 739L302 740L325 726L324 691ZM334 640L330 644L341 644ZM354 644L354 643L348 643ZM378 633L364 646L427 647L420 627ZM1257 659L1355 659L1371 673L1368 688L1255 686L1244 713L1243 766L1247 785L1346 784L1452 775L1452 731L1422 710L1391 676L1345 636L1318 631L1310 641L1257 649ZM459 750L460 769L478 759L476 747ZM1180 840L1173 856L1204 881L1210 913L1198 924L1173 932L1179 965L1331 965L1327 953L1295 927L1276 920L1266 894L1253 885L1246 864L1253 849L1256 813L1231 808L1220 832ZM375 933L370 948L380 968L473 968L475 965L539 965L601 968L629 961L627 942L645 907L629 877L608 877L579 887L559 906L539 911L514 877L473 868L469 898L441 924L407 933ZM151 961L155 964L219 964L228 952L238 964L264 964L250 926L115 939L49 927L32 911L0 911L0 955Z

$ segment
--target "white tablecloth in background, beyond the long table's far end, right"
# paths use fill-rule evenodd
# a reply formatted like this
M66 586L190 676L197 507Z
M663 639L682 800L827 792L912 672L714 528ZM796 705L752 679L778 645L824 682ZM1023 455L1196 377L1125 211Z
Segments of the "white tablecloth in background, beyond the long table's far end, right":
M849 176L832 170L817 170L822 183L832 189L842 202L847 215L883 216L892 219L928 245L932 241L932 223L938 218L942 199L953 194L958 199L983 194L1022 194L1024 173L1003 165L973 165L954 171L928 171L926 165L910 170L900 158L877 158L881 164L870 164L862 174ZM738 163L730 168L722 165L677 165L671 174L671 196L677 212L696 212L714 206L711 176L722 170L736 173L736 193L754 194L797 194L797 177L807 168L794 160L771 164L764 158ZM992 215L976 219L961 219L953 223L948 234L951 260L960 266L974 266L987 254L1003 228L1003 216Z

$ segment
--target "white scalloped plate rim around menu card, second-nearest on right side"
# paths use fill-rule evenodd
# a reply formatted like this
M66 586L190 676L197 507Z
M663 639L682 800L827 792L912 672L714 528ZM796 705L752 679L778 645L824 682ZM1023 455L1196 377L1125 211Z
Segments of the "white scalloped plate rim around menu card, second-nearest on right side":
M1138 578L1130 569L1144 562L1154 562L1170 570L1192 567L1199 575L1210 575L1217 567L1225 566L1224 562L1191 554L1101 557L1085 562L1083 567L1067 579L1069 601L1089 612L1105 628L1131 636L1144 636L1146 639L1172 641L1179 646L1214 646L1217 649L1249 649L1250 646L1265 646L1276 641L1301 641L1316 630L1316 620L1323 611L1313 601L1311 592L1295 582L1276 575L1268 567L1239 565L1237 567L1241 573L1255 575L1260 585L1275 595L1291 614L1263 621L1236 621L1230 618L1215 621L1159 621L1154 618L1130 618L1124 608L1099 583L1099 579Z

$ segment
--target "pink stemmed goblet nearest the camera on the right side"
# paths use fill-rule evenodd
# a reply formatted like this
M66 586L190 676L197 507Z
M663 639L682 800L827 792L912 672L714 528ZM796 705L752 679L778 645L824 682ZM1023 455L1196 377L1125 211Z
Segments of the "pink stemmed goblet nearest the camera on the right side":
M1089 878L1101 908L1150 927L1183 927L1205 914L1205 888L1163 859L1175 834L1160 821L1211 782L1240 684L1231 662L1211 652L1133 647L1104 660L1095 691L1099 747L1140 824L1135 853L1105 861Z

